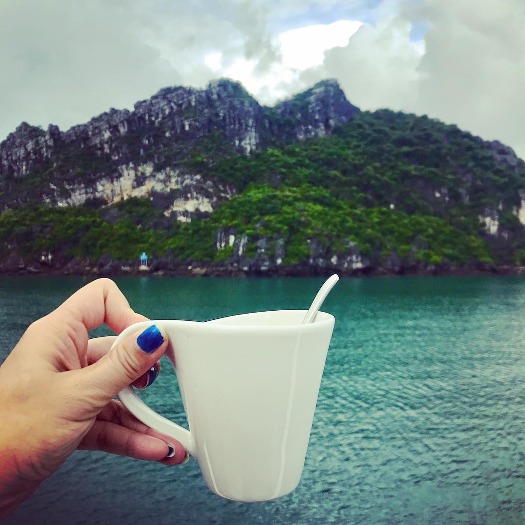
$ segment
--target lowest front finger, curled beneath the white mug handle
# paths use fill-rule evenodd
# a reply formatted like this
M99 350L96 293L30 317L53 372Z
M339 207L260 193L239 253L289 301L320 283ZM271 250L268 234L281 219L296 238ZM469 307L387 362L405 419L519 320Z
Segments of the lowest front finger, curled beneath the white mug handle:
M162 439L108 421L95 421L78 448L154 461L163 460L171 453L170 446Z

